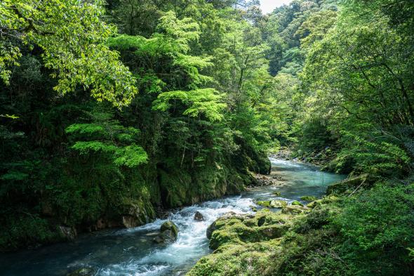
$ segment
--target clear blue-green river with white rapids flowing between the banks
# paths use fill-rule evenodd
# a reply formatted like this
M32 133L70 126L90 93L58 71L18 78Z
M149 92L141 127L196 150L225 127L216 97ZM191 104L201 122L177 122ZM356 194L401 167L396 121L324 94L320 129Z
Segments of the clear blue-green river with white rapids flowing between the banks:
M321 197L326 186L344 176L321 172L316 166L272 159L272 173L283 178L283 185L254 188L242 195L194 204L168 217L180 232L173 244L154 244L152 239L166 220L128 230L103 230L74 242L53 244L40 249L0 255L0 275L65 276L77 268L92 267L99 276L184 275L201 256L209 254L206 228L229 211L251 212L254 201L300 200L302 195ZM280 191L281 197L273 195ZM194 221L199 211L206 221Z

